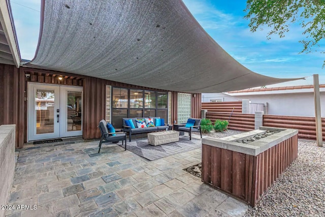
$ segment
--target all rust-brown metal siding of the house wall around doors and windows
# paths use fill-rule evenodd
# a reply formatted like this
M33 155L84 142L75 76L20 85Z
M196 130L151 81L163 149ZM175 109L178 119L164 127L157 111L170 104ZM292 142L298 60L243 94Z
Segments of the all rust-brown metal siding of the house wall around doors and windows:
M25 74L30 74L25 78ZM59 81L57 78L64 79ZM27 141L27 82L83 86L83 138L100 138L98 123L105 118L106 85L126 88L139 88L157 91L167 91L147 88L115 81L92 78L43 69L20 68L0 64L0 125L16 124L16 147L23 147ZM193 97L193 95L192 95ZM201 115L201 94L192 99L192 116ZM172 121L177 120L177 92L172 91Z

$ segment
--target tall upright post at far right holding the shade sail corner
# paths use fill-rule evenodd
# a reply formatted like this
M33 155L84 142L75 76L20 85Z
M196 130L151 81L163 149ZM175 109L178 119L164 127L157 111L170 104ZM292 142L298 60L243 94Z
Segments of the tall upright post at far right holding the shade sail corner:
M323 146L322 131L321 131L321 114L320 114L320 94L318 74L314 77L314 100L315 100L315 120L316 120L316 139L319 147Z

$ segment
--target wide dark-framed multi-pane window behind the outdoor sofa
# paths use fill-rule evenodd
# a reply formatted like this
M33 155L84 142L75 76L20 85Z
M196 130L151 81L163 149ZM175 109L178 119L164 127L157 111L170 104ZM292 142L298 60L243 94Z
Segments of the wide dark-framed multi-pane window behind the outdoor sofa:
M109 86L110 87L110 86ZM115 128L122 128L123 117L161 117L169 121L168 92L157 92L142 89L127 89L119 87L106 88L106 106L111 104L111 110L106 108L106 114L111 113L111 122ZM112 99L110 99L112 96ZM107 119L108 119L108 115Z

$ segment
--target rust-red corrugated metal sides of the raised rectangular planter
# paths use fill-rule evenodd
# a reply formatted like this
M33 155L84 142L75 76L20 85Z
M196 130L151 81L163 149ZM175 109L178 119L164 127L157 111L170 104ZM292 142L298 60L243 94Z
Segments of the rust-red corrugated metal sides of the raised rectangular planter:
M255 206L297 157L297 135L258 156L202 144L202 181Z

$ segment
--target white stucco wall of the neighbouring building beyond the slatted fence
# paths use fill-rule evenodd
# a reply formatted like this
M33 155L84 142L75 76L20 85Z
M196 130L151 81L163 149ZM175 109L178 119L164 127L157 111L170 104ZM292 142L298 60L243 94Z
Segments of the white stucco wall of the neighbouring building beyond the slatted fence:
M222 99L224 102L249 99L251 103L268 103L268 114L315 116L314 93L229 96L225 94L202 94L202 102ZM320 92L321 116L325 117L325 92Z

